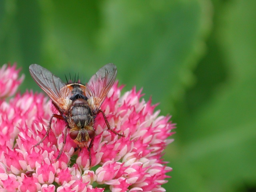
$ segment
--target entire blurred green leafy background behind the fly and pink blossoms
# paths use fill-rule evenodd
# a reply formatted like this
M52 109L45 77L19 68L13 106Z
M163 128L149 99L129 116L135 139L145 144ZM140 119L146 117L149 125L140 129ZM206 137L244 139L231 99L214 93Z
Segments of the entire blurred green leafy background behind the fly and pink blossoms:
M0 1L0 64L88 81L104 64L177 123L166 191L256 191L256 1Z

